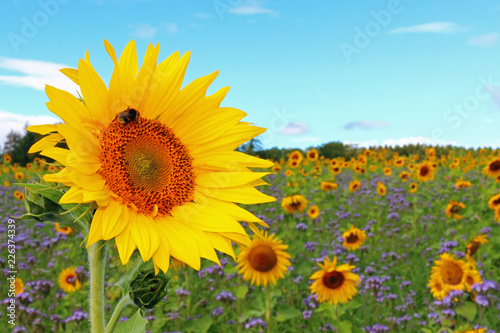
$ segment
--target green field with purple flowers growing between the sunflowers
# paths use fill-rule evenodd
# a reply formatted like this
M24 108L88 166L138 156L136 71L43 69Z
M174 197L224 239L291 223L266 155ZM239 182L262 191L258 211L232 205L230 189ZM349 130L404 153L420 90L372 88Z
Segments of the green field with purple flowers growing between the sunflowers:
M221 266L204 261L200 271L171 268L166 300L146 310L149 332L265 332L270 324L265 317L266 292L271 297L273 332L500 332L500 225L488 208L488 199L498 192L494 181L478 170L464 177L442 167L433 181L419 183L410 193L396 170L391 175L381 169L360 175L345 169L334 177L326 167L317 177L285 172L283 168L267 176L270 185L261 188L276 202L245 207L288 245L292 266L285 278L265 291L244 281L236 262L222 254ZM472 186L457 188L460 178ZM321 181L332 179L338 188L322 190ZM353 179L359 179L361 187L351 192ZM377 193L379 183L387 189L384 195ZM53 223L15 220L15 269L9 267L9 219L25 213L23 201L14 196L16 190L21 189L0 188L0 327L9 320L7 278L15 270L24 286L15 297L13 332L88 332L88 264L81 235L58 232ZM316 205L319 216L312 218L307 210L287 214L281 201L292 194ZM464 203L463 218L445 214L451 200ZM351 225L367 234L355 251L342 245L342 234ZM457 290L441 300L434 298L428 284L435 261L443 253L465 258L467 244L479 235L489 240L474 255L482 283L470 292ZM119 300L120 289L114 283L127 268L112 244L106 270L109 308ZM338 307L320 304L309 289L310 276L325 256L356 266L353 272L361 278L358 293ZM131 262L137 257L135 253ZM72 293L58 284L58 275L68 267L76 268L83 285ZM125 310L120 320L134 311Z

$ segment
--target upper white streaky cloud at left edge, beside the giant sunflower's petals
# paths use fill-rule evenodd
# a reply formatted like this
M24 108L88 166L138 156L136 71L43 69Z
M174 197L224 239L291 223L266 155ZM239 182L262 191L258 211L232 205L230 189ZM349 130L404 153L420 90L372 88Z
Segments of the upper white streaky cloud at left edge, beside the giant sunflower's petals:
M80 90L79 87L59 72L61 68L68 67L70 66L48 61L0 57L0 69L18 73L17 75L0 75L0 83L36 90L44 90L45 85L48 84L76 93Z

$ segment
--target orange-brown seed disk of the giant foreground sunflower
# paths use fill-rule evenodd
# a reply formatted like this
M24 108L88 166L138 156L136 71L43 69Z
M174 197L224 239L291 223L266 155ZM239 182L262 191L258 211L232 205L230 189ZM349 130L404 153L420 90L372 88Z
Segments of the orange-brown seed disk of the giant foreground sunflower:
M101 132L99 143L98 173L116 200L153 216L192 200L192 157L162 123L140 116L126 123L115 119Z

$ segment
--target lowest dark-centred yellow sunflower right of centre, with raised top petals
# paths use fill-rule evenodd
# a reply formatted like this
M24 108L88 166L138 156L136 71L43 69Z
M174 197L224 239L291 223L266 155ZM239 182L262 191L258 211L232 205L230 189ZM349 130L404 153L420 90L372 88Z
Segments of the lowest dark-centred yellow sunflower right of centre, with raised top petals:
M355 266L343 264L337 267L337 257L333 257L333 261L325 257L323 263L318 265L321 270L309 278L315 280L309 289L319 302L328 302L330 305L337 305L339 302L345 304L356 295L359 275L351 273Z

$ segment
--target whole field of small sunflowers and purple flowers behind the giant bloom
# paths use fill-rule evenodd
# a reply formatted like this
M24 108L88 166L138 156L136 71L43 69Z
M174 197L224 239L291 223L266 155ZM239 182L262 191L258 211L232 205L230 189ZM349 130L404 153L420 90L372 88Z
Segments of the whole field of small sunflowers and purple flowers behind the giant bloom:
M220 265L202 260L195 270L172 258L166 295L142 317L125 307L119 323L141 321L148 332L500 331L500 151L377 148L345 160L311 149L272 162L259 189L277 200L242 205L269 227L252 226L251 244L218 253ZM15 284L15 332L89 331L84 237L69 225L13 218L29 208L22 183L60 170L3 156L0 318L8 320ZM108 245L106 310L142 261L135 251L122 265L115 240Z

